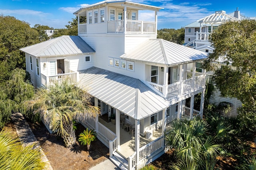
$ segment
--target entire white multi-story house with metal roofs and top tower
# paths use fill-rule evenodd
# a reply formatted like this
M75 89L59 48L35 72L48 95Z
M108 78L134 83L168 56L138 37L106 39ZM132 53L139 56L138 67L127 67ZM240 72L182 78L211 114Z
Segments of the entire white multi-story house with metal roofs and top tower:
M94 96L100 114L83 124L96 129L122 169L139 169L161 156L168 123L203 114L205 71L196 69L207 54L156 39L160 9L126 0L92 4L74 13L78 36L21 49L35 87L68 79ZM140 21L139 10L152 11L155 21ZM86 23L79 23L81 16ZM196 111L194 96L199 93ZM111 115L115 125L108 123Z

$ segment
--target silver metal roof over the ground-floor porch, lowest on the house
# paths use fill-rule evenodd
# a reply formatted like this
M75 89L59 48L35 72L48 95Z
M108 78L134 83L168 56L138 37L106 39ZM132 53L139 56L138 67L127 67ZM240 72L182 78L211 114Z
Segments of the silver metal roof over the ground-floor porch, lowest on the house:
M169 106L168 101L139 79L97 67L80 71L80 85L100 101L136 120Z

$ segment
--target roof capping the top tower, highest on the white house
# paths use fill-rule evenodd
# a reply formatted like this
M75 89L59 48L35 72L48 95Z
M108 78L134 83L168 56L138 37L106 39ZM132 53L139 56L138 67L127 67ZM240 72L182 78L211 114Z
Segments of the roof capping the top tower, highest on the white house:
M85 6L83 8L80 8L79 10L74 12L73 14L78 14L80 11L82 11L84 9L93 8L95 6L111 4L111 3L131 4L131 5L134 5L134 7L138 8L138 9L141 9L141 10L145 10L145 8L148 8L148 10L157 10L157 11L159 11L160 9L164 9L164 8L161 8L161 7L158 7L158 6L145 5L145 4L140 4L140 3L131 2L131 1L127 1L127 0L104 0L104 1L101 1L101 2L97 2L96 4L91 4L91 5Z

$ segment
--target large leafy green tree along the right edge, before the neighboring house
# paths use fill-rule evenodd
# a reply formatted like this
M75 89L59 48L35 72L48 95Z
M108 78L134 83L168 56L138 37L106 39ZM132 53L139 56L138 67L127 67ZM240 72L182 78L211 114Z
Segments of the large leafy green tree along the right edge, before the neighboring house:
M227 22L211 34L215 49L204 62L224 97L236 97L246 127L256 127L256 20ZM222 61L222 67L216 67ZM248 123L250 122L250 125Z

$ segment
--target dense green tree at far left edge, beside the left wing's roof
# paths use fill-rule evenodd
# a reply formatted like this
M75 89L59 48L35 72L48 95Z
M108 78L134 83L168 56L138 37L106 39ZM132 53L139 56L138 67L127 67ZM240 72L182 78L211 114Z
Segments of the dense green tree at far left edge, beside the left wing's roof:
M38 32L12 16L0 15L0 82L15 68L26 69L25 55L19 49L38 43Z

